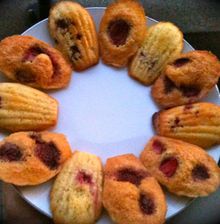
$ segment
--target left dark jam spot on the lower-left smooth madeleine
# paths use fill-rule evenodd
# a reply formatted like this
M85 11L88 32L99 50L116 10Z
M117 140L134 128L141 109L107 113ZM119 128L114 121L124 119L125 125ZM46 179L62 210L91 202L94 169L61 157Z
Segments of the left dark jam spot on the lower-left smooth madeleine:
M22 160L21 149L12 143L6 142L0 147L0 160L3 161L20 161Z

